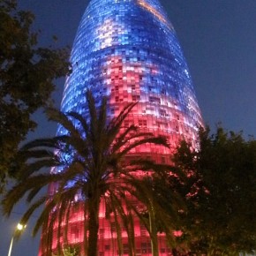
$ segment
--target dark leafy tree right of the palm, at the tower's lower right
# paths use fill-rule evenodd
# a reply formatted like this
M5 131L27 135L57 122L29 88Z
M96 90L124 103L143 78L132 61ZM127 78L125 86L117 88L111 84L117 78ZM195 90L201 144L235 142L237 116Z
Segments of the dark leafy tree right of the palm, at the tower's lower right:
M256 141L241 133L201 129L199 149L182 142L174 157L186 180L171 189L183 195L184 235L196 255L238 255L256 245Z

